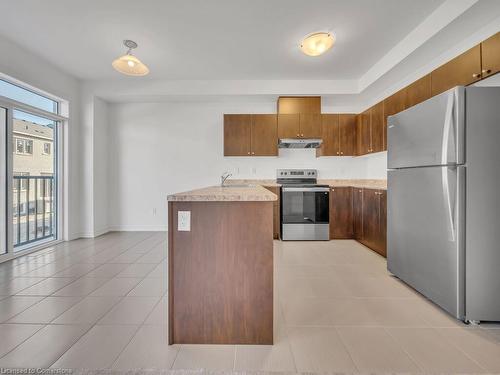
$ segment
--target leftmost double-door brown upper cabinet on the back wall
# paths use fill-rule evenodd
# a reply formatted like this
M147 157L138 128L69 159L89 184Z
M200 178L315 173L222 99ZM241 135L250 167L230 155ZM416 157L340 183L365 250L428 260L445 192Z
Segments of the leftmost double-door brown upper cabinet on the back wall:
M276 115L224 115L224 156L278 155Z

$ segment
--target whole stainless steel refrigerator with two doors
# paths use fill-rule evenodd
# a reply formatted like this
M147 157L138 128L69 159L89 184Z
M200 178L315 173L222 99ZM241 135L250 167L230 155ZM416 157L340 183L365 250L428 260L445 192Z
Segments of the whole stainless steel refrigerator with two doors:
M464 321L500 321L500 87L388 119L387 264Z

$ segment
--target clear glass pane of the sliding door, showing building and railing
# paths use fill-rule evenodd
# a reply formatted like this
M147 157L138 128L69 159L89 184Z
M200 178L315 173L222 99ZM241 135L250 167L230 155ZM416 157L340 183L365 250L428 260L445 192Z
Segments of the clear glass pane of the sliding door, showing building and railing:
M15 109L12 122L14 251L57 236L59 122Z

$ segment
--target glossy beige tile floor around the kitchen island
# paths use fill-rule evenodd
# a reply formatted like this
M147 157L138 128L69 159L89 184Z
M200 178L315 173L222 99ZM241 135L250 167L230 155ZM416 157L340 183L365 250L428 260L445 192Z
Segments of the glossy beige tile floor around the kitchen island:
M110 233L0 264L0 367L500 372L465 326L355 241L275 242L275 345L167 345L164 233Z

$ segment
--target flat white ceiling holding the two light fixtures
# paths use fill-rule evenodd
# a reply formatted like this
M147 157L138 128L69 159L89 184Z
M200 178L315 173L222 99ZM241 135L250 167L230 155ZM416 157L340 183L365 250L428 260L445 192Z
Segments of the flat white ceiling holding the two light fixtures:
M16 0L4 1L0 35L80 79L127 79L111 68L123 39L148 78L359 79L444 0ZM337 42L303 55L308 33Z

